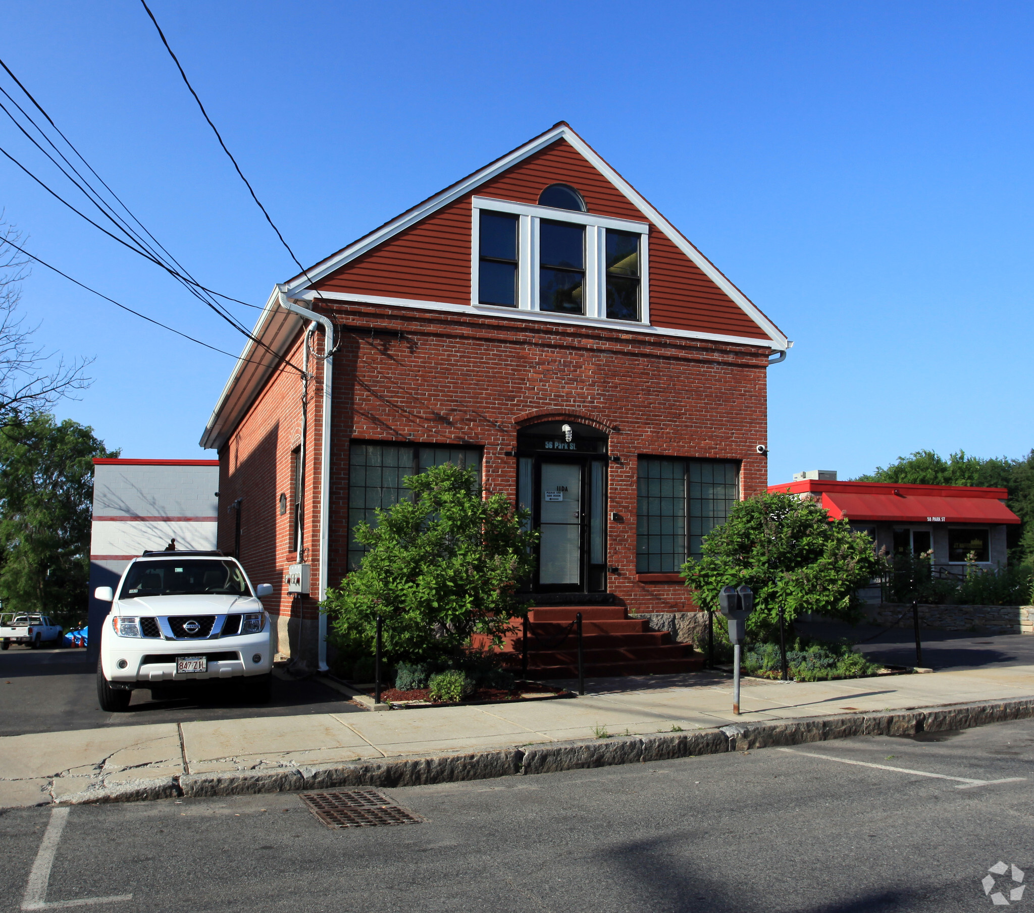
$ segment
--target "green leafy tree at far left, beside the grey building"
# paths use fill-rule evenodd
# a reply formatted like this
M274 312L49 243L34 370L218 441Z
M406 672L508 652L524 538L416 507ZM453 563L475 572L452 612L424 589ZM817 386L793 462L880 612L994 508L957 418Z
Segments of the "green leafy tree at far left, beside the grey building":
M0 428L0 598L12 611L85 618L93 458L117 457L93 429L49 413Z

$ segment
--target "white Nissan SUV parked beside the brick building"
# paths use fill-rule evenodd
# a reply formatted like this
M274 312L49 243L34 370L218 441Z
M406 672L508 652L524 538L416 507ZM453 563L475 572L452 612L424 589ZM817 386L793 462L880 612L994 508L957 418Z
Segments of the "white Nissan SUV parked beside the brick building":
M254 700L268 701L273 657L270 620L244 569L220 552L144 552L119 580L101 628L97 700L125 710L135 688L168 693L183 683L241 678Z

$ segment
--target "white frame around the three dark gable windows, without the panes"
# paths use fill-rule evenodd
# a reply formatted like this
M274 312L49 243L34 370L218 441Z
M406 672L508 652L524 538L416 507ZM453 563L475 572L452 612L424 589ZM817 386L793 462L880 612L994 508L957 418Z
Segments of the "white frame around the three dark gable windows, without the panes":
M513 313L535 311L550 317L571 322L604 323L614 327L649 326L649 222L618 219L612 216L596 215L590 212L576 212L570 209L553 209L549 206L533 206L527 203L513 203L490 196L475 196L472 201L470 219L470 306L484 311L505 311ZM482 304L478 287L481 274L481 212L499 212L518 216L517 224L517 307ZM585 313L566 314L556 311L539 310L539 225L542 220L570 222L585 226ZM617 321L607 316L607 257L606 233L629 232L639 235L639 319Z

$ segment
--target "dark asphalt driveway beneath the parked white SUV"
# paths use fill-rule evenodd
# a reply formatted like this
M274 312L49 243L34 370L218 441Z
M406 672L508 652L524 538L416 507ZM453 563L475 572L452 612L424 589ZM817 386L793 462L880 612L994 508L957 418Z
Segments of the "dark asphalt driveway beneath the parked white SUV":
M192 720L239 720L242 717L286 717L303 713L366 712L339 692L318 681L284 681L274 677L273 699L256 704L229 682L213 682L211 692L192 698L152 701L146 689L134 691L124 713L97 706L96 665L85 649L40 649L11 646L0 652L0 735L186 723ZM218 687L223 686L223 687Z

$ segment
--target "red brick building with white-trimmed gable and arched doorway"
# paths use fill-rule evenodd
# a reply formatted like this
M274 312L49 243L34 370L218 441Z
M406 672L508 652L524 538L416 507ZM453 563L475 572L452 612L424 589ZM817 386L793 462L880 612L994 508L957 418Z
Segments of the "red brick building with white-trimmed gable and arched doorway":
M220 547L280 581L279 651L309 664L351 527L446 460L531 509L540 603L690 608L678 567L765 490L790 345L565 123L278 285L254 337L202 446Z

